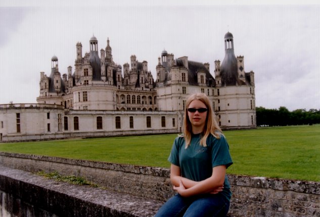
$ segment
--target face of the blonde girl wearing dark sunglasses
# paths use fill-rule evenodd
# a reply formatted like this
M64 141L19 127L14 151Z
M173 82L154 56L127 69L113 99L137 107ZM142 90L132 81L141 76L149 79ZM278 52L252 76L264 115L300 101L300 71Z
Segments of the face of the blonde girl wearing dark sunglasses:
M193 100L190 105L188 106L189 108L207 108L207 106L200 100L195 99ZM207 118L207 113L208 111L188 111L188 117L191 122L192 128L197 128L197 129L203 129L205 124L206 124L206 118Z

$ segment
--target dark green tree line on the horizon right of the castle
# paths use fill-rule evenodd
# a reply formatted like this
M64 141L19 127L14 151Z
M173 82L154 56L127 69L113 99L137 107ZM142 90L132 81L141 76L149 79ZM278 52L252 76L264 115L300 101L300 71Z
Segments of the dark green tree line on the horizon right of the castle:
M281 106L279 110L256 107L257 126L312 125L320 123L320 110L298 109L290 112Z

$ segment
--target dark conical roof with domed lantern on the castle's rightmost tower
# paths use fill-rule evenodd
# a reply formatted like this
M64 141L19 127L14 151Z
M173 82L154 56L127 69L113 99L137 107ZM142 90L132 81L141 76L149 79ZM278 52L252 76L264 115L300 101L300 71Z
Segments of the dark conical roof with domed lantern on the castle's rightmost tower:
M227 32L224 35L225 56L221 64L220 76L222 85L232 86L238 84L238 62L234 50L234 36Z

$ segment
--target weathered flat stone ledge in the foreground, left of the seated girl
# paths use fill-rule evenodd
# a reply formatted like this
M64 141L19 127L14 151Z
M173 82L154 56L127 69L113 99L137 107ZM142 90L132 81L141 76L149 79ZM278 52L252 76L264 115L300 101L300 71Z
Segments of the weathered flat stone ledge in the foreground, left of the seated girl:
M162 201L57 182L0 165L0 190L56 216L153 216Z

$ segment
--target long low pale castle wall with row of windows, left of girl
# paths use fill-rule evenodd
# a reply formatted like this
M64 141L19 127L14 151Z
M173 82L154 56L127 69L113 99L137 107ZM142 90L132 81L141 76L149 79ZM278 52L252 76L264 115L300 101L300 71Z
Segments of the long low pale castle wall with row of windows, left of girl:
M0 106L0 122L4 126L0 128L0 142L178 133L181 127L179 112L85 111L64 110L61 105L21 105Z

